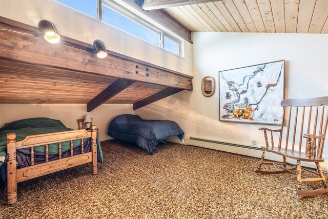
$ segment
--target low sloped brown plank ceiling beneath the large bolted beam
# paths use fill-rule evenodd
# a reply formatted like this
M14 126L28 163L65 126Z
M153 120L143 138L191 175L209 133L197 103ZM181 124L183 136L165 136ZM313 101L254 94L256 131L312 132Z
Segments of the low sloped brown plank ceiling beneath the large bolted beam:
M84 72L0 61L1 103L87 104L117 78ZM106 104L133 104L165 86L135 82Z

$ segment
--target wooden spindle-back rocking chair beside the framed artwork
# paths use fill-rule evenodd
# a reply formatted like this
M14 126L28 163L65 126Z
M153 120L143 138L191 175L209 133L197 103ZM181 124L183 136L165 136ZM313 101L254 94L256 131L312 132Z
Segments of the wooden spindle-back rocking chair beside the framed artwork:
M283 107L283 121L281 128L272 130L268 128L260 128L264 131L265 147L263 154L257 168L254 172L261 174L273 174L273 173L296 173L297 174L297 189L294 190L294 194L302 196L320 195L328 192L327 181L322 173L320 162L324 162L322 158L324 141L328 126L328 112L325 110L325 105L328 105L328 96L317 97L310 99L283 99L281 106ZM288 111L288 121L286 121L287 129L283 130L285 122L285 112ZM326 116L324 116L326 114ZM305 121L304 121L305 117ZM325 120L324 120L325 117ZM313 125L311 120L314 119ZM292 122L291 122L292 121ZM294 128L290 129L291 123L294 123ZM303 128L306 128L306 132L303 134ZM271 132L271 146L269 146L267 131ZM290 131L293 131L293 137L289 138ZM279 133L278 147L274 147L273 132ZM319 132L319 133L317 133ZM299 133L299 137L298 136ZM312 133L312 134L311 134ZM285 138L282 146L282 139ZM295 143L296 138L299 138L298 147ZM302 140L304 138L304 147L302 147ZM283 156L283 162L264 162L265 153L269 151L275 154ZM297 160L296 165L286 162L286 157ZM317 166L318 173L309 171L318 175L318 177L304 177L301 168L301 161L314 162ZM261 170L262 165L274 165L281 170ZM291 168L287 168L287 165L291 165ZM296 170L296 171L295 171ZM303 182L315 182L322 181L323 187L316 190L302 190Z

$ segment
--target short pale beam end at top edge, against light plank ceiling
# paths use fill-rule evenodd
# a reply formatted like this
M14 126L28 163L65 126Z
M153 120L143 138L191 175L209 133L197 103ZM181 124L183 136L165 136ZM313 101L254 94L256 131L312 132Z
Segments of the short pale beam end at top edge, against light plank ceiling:
M142 9L154 10L218 1L222 0L144 0L144 3L142 4Z

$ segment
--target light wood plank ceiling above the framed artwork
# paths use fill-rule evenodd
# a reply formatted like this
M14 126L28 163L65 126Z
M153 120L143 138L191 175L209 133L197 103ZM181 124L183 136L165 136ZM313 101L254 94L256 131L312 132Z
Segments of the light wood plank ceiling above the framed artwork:
M164 10L191 31L328 33L328 0L224 0Z

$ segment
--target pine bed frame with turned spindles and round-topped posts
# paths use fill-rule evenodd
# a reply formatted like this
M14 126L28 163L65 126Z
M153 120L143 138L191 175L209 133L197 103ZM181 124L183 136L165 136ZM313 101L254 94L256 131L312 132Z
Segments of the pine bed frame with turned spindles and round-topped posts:
M84 138L91 137L91 152L84 153ZM16 142L16 134L7 134L7 181L8 204L17 201L17 183L30 180L49 173L92 162L92 174L97 173L97 132L96 126L91 131L73 130L27 136L23 141ZM73 140L81 140L81 154L73 155ZM70 142L71 156L61 158L61 142ZM59 159L49 162L49 144L58 143ZM34 165L34 147L45 147L46 163ZM31 166L16 168L16 150L30 148Z

